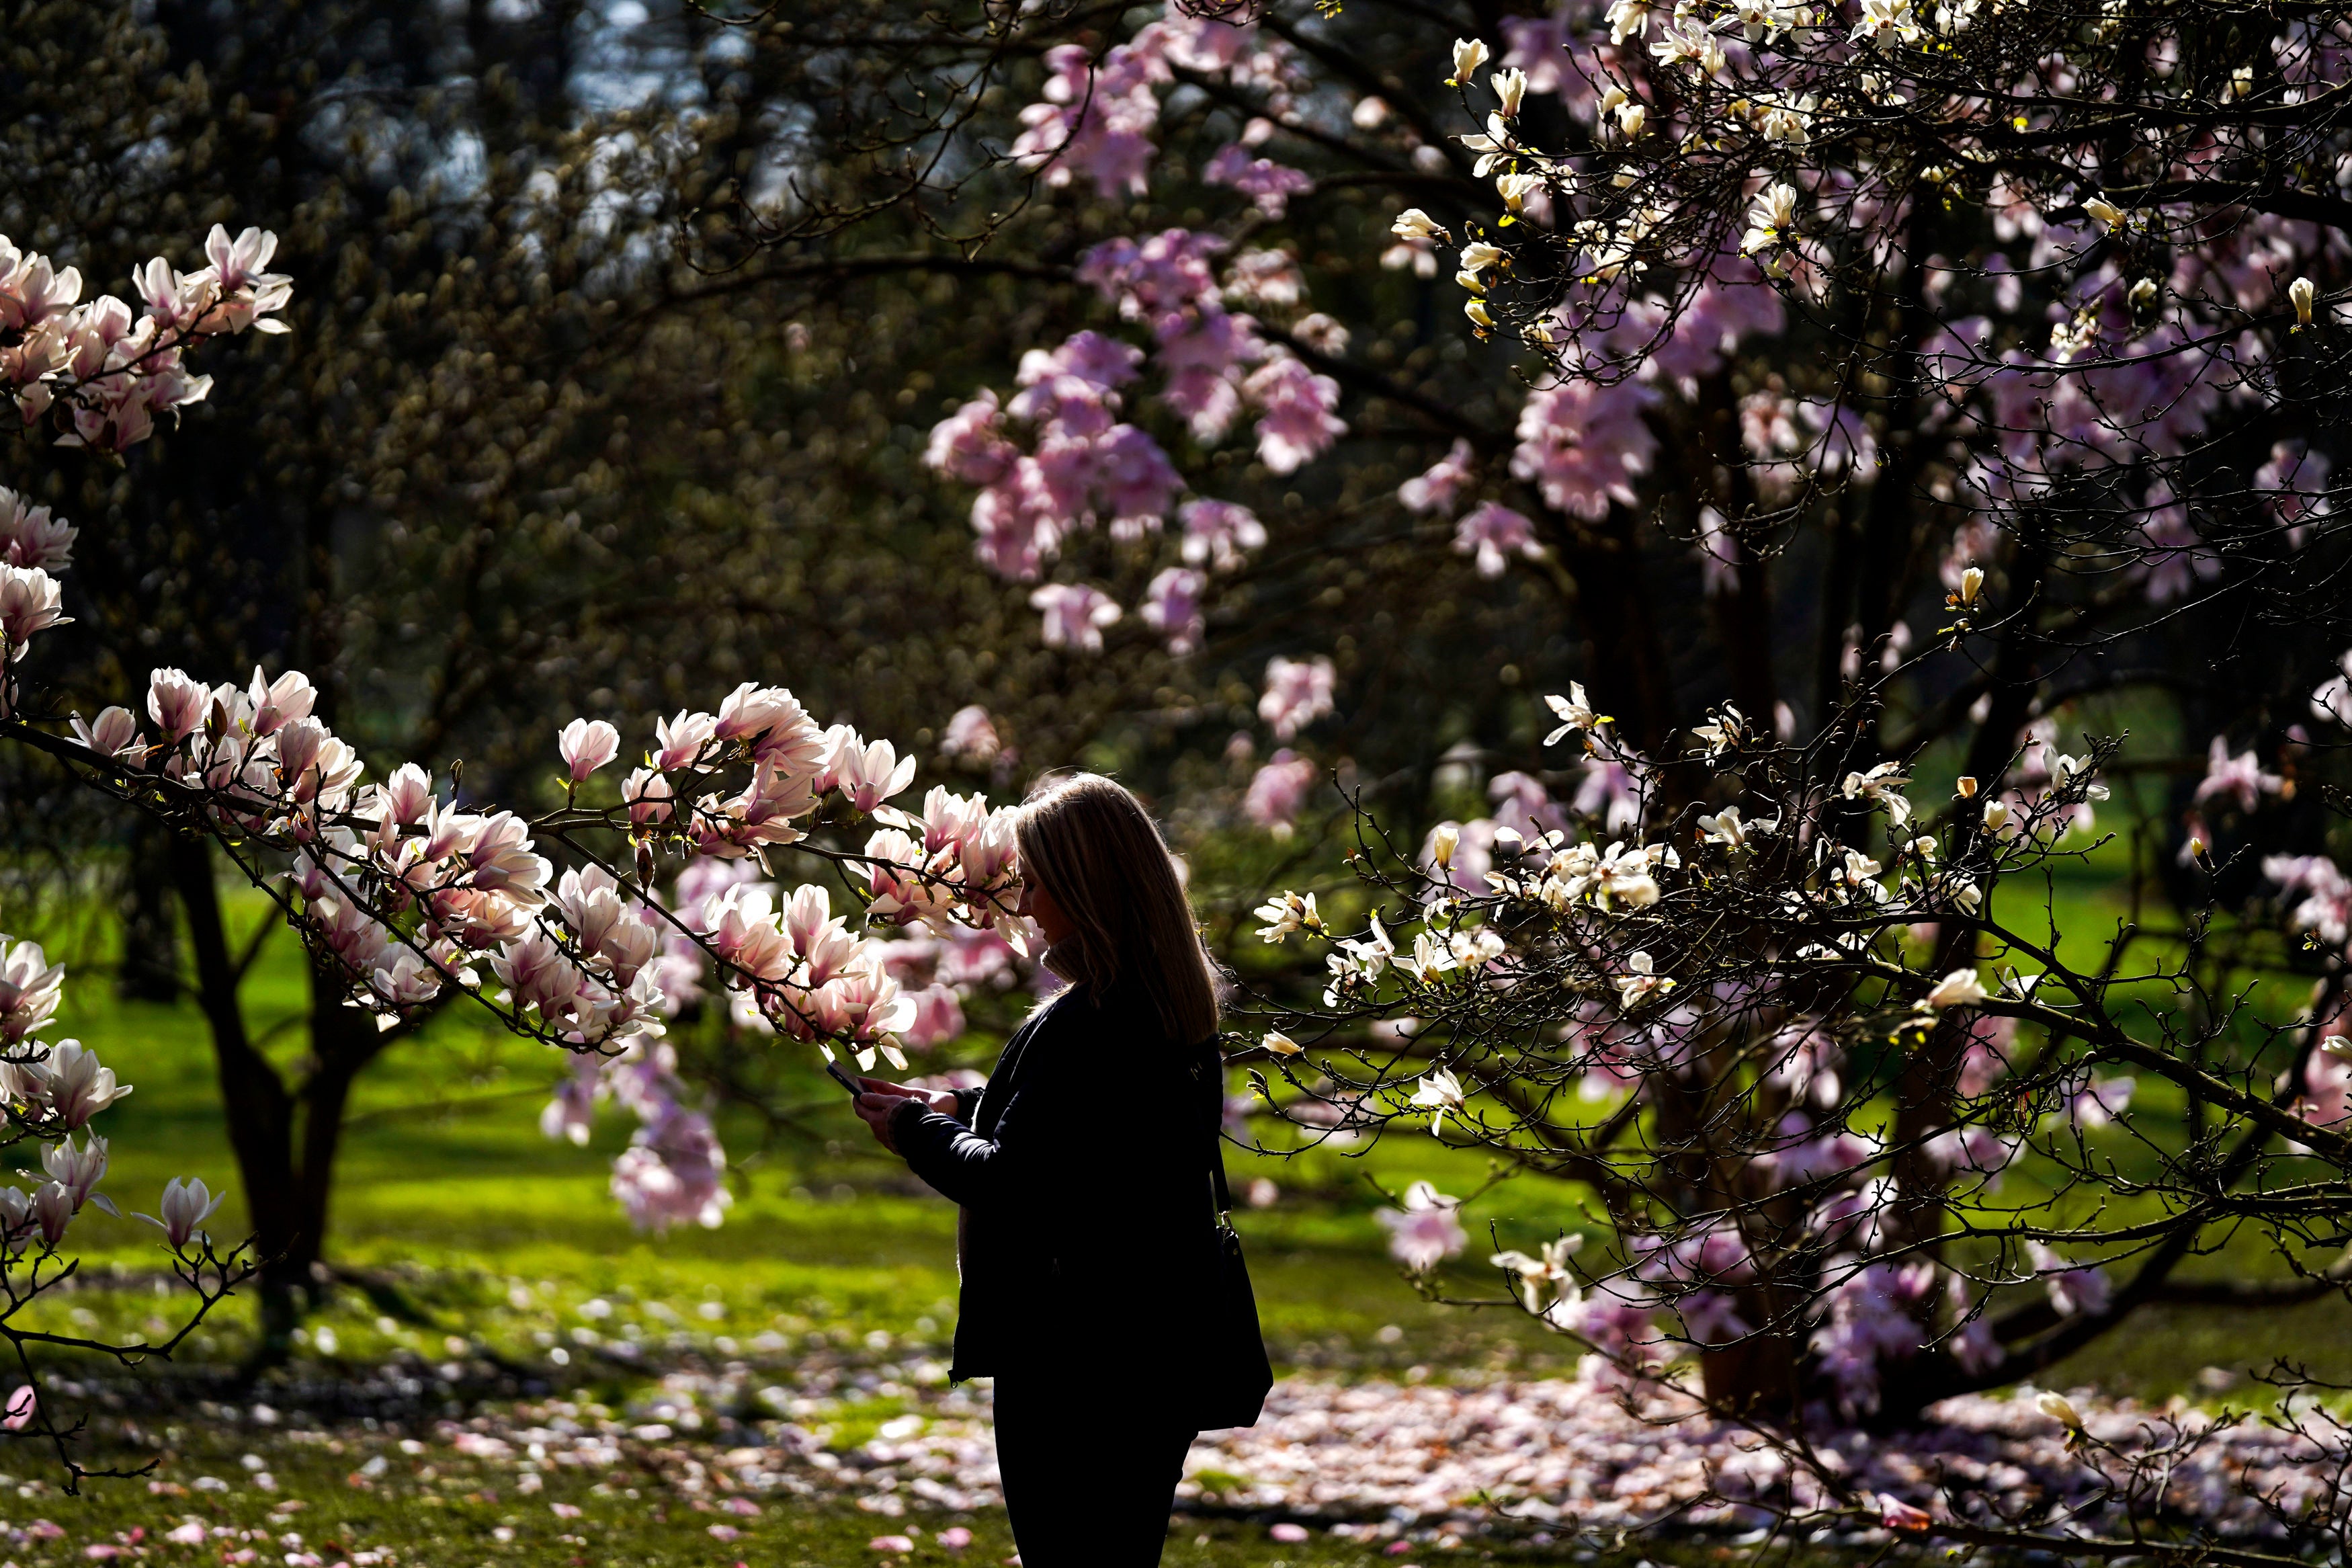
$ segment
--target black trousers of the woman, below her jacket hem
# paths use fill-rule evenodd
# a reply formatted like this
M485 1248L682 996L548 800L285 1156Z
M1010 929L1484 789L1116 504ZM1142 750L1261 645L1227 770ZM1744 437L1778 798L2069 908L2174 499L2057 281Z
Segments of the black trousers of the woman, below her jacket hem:
M997 1378L997 1472L1021 1568L1155 1568L1195 1432L1108 1378ZM1138 1408L1143 1406L1143 1408Z

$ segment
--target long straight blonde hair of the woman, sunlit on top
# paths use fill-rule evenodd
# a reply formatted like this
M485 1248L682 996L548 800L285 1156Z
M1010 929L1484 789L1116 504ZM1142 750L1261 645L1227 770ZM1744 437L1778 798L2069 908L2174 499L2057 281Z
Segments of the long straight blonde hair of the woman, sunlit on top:
M1070 917L1075 978L1096 994L1134 985L1169 1041L1216 1034L1216 980L1160 827L1124 785L1101 773L1042 778L1014 825L1021 875Z

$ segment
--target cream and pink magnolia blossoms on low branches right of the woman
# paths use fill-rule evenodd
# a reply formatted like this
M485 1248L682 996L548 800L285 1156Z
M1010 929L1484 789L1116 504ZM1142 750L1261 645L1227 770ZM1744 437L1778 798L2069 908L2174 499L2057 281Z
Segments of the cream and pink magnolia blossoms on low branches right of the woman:
M1329 940L1324 1009L1338 1020L1404 1011L1414 1027L1399 1039L1451 1041L1369 1084L1350 1086L1324 1065L1334 1088L1310 1093L1294 1119L1319 1128L1315 1112L1352 1095L1374 1119L1428 1117L1446 1140L1508 1143L1524 1117L1526 1072L1548 1081L1557 1072L1604 1124L1635 1107L1668 1114L1668 1098L1719 1084L1703 1103L1710 1135L1738 1150L1738 1206L1665 1204L1653 1229L1628 1227L1613 1265L1583 1272L1569 1262L1573 1239L1496 1258L1529 1312L1625 1373L1656 1373L1677 1342L1795 1333L1823 1396L1860 1415L1879 1408L1905 1363L1947 1356L1966 1373L2002 1363L1983 1316L1987 1284L2039 1281L2060 1316L2103 1312L2093 1262L2037 1244L2023 1272L1973 1281L1903 1251L1896 1220L1898 1168L1992 1194L2027 1147L2032 1128L2016 1124L2013 1011L2037 997L2034 978L1922 966L1917 954L1933 952L1940 922L1985 912L2016 856L2039 853L2091 809L2103 795L2096 762L2058 752L2056 731L2037 729L2006 788L1959 780L1955 811L1976 818L1962 858L1922 830L1912 778L1893 762L1792 785L1771 816L1736 802L1696 809L1663 835L1642 811L1663 792L1661 764L1623 748L1581 686L1548 705L1559 717L1548 743L1576 738L1588 783L1602 783L1569 809L1534 776L1494 778L1496 816L1442 823L1414 872L1388 884L1418 900L1418 931L1374 912L1362 933L1338 933L1303 893L1258 910L1268 943ZM1769 743L1726 703L1689 731L1677 766L1696 762L1745 792L1745 757ZM1632 811L1611 823L1616 778ZM2274 875L2319 877L2300 865ZM1769 931L1717 952L1708 931L1726 919ZM1853 1016L1875 1020L1882 1039L1893 1030L1924 1048L1933 1037L1957 1053L1952 1100L1915 1143L1898 1147L1884 1126L1853 1119ZM1491 1023L1503 1039L1472 1044ZM1303 1056L1279 1032L1263 1044L1284 1074ZM2352 1084L2352 1072L2343 1077ZM2032 1093L2049 1107L2042 1131L2067 1133L2114 1121L2131 1088L2129 1077L2044 1070ZM1435 1190L1409 1194L1383 1220L1397 1258L1423 1272L1461 1251L1456 1208Z

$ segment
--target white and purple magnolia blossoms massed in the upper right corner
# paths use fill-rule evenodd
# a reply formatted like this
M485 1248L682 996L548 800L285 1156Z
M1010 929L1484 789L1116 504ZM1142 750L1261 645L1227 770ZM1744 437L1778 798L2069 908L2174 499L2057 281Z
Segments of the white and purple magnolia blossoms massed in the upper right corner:
M2272 397L2279 343L2317 320L2307 273L2324 266L2328 230L2263 209L2213 214L2220 197L2192 195L2204 129L2183 132L2169 174L2105 169L2089 153L2096 132L2079 160L2011 172L1987 141L2013 127L1987 106L2074 92L2086 66L2070 54L2004 54L2009 31L1973 28L1980 9L1976 0L1933 14L1865 5L1849 28L1837 9L1771 0L1712 19L1623 0L1503 21L1508 49L1491 71L1484 42L1458 40L1449 85L1484 115L1484 129L1458 141L1477 158L1475 174L1494 181L1496 216L1456 235L1406 209L1395 235L1428 254L1430 270L1435 247L1451 244L1472 329L1510 329L1559 371L1522 409L1512 475L1578 517L1635 503L1656 447L1642 409L1663 388L1689 395L1743 336L1780 331L1780 292L1820 299L1856 268L1891 277L1924 266L1931 331L1917 350L1933 404L1922 433L1947 484L1980 515L1999 515L2100 470L2114 491L2107 569L2159 607L2211 583L2220 557L2190 520L2183 458L2225 409ZM2147 49L2171 61L2178 40ZM2340 45L2319 31L2281 31L2272 49L2281 71L2336 80L2319 61L2340 63ZM1957 85L1969 73L1980 92ZM2164 63L2147 80L2171 75ZM1846 134L1860 127L1858 106L1910 103L1915 92L1950 106L1936 150L1957 153L1952 162L1917 179L1896 176L1907 169L1900 160L1837 162L1872 143ZM1529 141L1526 103L1541 96L1590 127L1585 150ZM1969 197L1992 209L1999 249L1910 256L1912 209L1950 202L1955 169L1969 162L2002 169ZM2180 195L2129 212L2100 193L2110 176L2143 188L2169 179ZM1712 209L1719 193L1743 188L1745 212ZM1764 505L1877 465L1872 418L1844 395L1806 400L1771 378L1745 395L1740 425ZM1399 501L1449 505L1465 458L1456 449ZM2303 440L2274 442L2256 473L2253 496L2288 550L2307 548L2331 515L2328 475L2326 454ZM1722 517L1700 524L1708 583L1722 590L1736 545ZM1458 548L1477 552L1482 571L1501 571L1522 538L1496 510L1458 524Z

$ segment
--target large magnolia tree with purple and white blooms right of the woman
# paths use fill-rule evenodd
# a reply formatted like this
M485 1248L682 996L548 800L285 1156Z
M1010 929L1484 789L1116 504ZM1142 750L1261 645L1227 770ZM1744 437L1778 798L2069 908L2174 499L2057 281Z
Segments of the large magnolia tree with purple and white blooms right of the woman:
M1397 597L1524 585L1559 632L1550 715L1425 665L1439 788L1367 780L1359 882L1263 907L1327 964L1249 964L1284 1117L1583 1182L1597 1244L1505 1237L1512 1300L1764 1427L1766 1512L1879 1516L1813 1418L2060 1375L2154 1302L2343 1293L2352 16L927 19L866 28L863 113L793 143L828 179L741 237L856 268L917 212L1037 282L1061 331L927 458L1044 644L1249 679L1235 752L1282 750L1240 806L1282 830L1395 712ZM2086 733L2119 710L2183 738ZM2129 842L2103 778L2154 785ZM1465 1244L1430 1187L1390 1220L1423 1267ZM2197 1267L2225 1244L2251 1279ZM2152 1521L2173 1436L2079 1443ZM2336 1493L2270 1502L2338 1533ZM1957 1479L1884 1523L2152 1547Z

